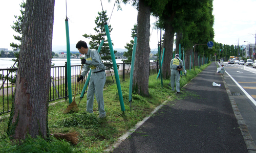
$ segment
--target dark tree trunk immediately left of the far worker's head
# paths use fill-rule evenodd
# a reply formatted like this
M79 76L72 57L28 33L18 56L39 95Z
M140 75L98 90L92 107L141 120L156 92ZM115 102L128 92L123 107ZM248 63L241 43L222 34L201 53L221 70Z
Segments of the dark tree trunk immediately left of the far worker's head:
M170 79L170 61L173 59L173 45L174 45L174 28L172 26L172 18L169 18L164 25L164 42L165 48L162 73L163 79Z

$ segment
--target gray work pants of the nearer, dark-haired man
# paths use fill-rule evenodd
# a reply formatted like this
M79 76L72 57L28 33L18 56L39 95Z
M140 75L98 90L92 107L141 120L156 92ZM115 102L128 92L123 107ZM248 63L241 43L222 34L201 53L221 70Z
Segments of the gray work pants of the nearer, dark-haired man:
M105 115L103 88L106 81L105 72L92 73L90 83L87 91L87 112L93 113L94 94L98 103L98 110L100 114Z

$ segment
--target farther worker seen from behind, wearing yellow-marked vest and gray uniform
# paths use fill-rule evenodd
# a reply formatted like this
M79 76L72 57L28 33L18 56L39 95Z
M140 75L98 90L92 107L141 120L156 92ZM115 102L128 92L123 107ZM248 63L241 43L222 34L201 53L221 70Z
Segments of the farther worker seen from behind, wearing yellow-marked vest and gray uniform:
M170 61L170 87L172 87L172 91L174 91L175 82L177 93L180 93L180 71L177 70L177 66L179 65L182 67L182 71L187 73L182 60L179 58L179 54L176 54L175 58Z

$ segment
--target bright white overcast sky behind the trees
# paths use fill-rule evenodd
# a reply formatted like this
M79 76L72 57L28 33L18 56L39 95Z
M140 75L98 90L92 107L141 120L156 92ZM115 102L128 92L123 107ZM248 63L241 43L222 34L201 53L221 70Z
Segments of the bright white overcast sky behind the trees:
M11 29L11 25L16 20L14 15L20 15L19 4L22 2L22 0L0 1L0 48L12 50L10 43L16 42L13 35L17 35L17 33ZM102 0L103 9L107 11L108 17L111 16L114 2L114 0L111 3L108 3L108 0ZM237 45L238 42L240 45L248 43L244 41L254 44L256 32L255 6L256 0L214 0L214 41L229 45ZM94 20L98 16L98 12L101 11L100 0L67 0L67 16L70 19L70 44L76 44L79 40L89 43L89 39L82 35L95 34L93 30L96 26ZM54 12L53 51L57 51L66 46L66 1L55 0ZM160 31L152 31L155 21L156 18L151 17L151 48L157 48L158 40L160 40ZM131 4L122 4L122 11L117 11L115 6L109 21L113 28L111 39L114 48L124 48L126 43L130 42L132 39L131 29L136 22L137 10ZM76 50L76 48L71 45L71 51L73 50Z

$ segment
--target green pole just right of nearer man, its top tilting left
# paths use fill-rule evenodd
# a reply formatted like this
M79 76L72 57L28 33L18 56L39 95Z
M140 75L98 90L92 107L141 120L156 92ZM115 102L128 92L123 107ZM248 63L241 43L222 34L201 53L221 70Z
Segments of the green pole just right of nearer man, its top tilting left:
M113 46L112 46L112 41L111 41L111 38L110 38L110 31L109 31L108 23L104 23L104 27L105 27L105 31L106 31L106 37L108 37L111 59L112 59L113 67L114 67L114 71L115 71L116 86L117 86L117 90L118 90L120 106L121 106L121 110L124 112L125 108L124 108L124 104L123 104L123 95L122 95L120 79L119 79L117 65L116 65L116 58L115 58L115 54L114 54L114 50L113 50Z

